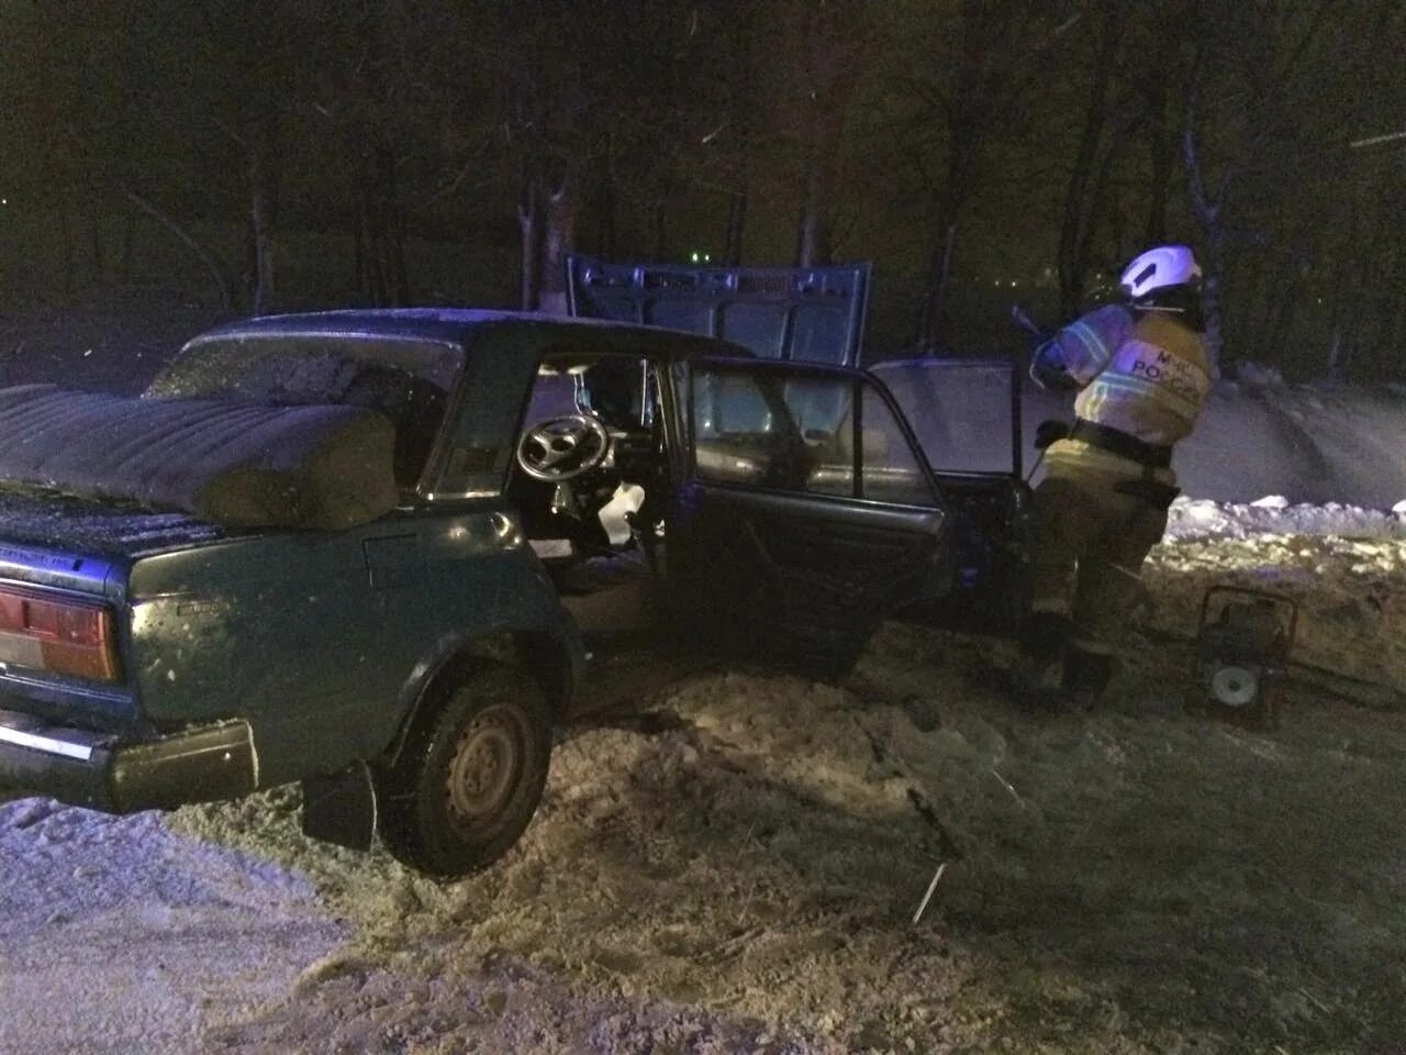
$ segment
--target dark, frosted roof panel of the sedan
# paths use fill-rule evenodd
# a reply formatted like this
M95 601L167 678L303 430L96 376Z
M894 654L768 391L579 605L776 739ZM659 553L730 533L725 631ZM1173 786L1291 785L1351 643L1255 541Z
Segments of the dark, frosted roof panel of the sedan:
M609 335L627 335L634 347L644 343L648 354L661 359L751 356L733 342L662 326L486 308L343 308L257 315L208 329L187 342L187 347L208 340L262 336L401 338L467 345L475 333L505 328L533 331L541 343L558 335L589 333L591 343L600 345Z

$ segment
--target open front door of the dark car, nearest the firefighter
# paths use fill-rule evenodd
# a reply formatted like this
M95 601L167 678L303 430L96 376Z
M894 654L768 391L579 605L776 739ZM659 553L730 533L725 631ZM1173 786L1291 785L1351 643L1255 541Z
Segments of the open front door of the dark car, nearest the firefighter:
M1021 378L1000 359L879 363L952 512L952 591L901 615L931 626L1014 634L1029 599L1029 488Z

